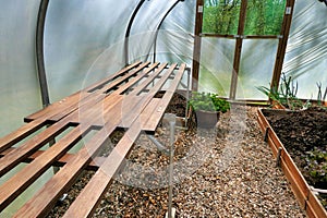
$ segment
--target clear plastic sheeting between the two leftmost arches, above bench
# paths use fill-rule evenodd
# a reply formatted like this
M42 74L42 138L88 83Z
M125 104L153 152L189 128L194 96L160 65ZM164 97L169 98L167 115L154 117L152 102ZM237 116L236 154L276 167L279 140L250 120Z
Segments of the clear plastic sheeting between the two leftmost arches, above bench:
M51 102L124 66L123 39L138 1L50 1L45 62ZM101 59L110 52L108 59ZM101 60L101 62L99 62ZM90 72L90 69L96 72Z

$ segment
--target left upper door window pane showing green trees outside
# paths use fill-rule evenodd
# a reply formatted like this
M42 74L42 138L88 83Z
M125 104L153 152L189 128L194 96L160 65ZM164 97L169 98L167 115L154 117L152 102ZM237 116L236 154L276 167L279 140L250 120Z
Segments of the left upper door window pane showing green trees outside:
M241 0L206 0L203 33L238 34L240 8Z

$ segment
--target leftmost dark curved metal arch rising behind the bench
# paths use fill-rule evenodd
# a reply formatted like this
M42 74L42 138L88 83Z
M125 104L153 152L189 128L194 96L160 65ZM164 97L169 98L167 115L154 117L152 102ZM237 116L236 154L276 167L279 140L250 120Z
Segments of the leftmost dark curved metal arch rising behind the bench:
M36 26L36 64L44 108L50 105L44 53L44 31L48 4L49 0L40 1Z

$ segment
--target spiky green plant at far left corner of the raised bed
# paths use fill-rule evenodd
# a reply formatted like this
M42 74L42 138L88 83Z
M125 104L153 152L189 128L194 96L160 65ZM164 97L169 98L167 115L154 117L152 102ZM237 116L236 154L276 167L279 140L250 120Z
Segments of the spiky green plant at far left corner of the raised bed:
M281 77L279 89L276 86L267 88L265 86L256 87L271 100L271 106L280 105L284 108L295 110L308 107L310 102L303 104L298 97L298 83L294 84L292 77L287 77L284 73Z

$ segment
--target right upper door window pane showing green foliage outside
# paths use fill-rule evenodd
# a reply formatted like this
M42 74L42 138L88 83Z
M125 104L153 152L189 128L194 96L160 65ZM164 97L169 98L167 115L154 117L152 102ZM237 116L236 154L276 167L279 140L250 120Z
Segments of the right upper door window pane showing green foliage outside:
M244 35L279 35L286 0L249 0Z

